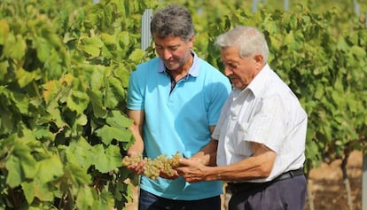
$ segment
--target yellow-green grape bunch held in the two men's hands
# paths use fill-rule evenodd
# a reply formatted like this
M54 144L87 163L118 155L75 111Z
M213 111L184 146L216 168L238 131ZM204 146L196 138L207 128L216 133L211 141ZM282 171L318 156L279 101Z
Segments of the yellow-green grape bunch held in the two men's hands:
M122 166L129 166L141 161L145 162L144 175L150 179L157 179L160 176L160 172L164 172L167 175L174 175L175 170L173 168L179 166L179 160L182 158L180 152L172 155L172 158L168 158L167 154L161 154L155 159L144 158L141 155L125 156L122 159Z

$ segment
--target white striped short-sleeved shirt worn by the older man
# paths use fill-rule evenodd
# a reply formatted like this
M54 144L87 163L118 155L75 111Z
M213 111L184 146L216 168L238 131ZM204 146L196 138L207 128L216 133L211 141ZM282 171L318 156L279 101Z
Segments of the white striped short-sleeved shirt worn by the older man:
M305 161L307 114L293 91L269 65L246 89L233 89L212 135L218 140L217 164L230 165L253 155L252 143L277 152L274 167L262 183Z

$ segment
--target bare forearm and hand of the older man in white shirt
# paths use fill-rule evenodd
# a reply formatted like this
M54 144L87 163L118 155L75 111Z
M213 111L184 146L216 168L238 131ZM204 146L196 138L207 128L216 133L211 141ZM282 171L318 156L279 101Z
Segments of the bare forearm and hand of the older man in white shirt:
M177 171L189 183L212 180L244 181L269 176L277 153L263 144L254 143L253 149L252 157L221 167L207 167L198 161L182 159L183 167L177 168Z

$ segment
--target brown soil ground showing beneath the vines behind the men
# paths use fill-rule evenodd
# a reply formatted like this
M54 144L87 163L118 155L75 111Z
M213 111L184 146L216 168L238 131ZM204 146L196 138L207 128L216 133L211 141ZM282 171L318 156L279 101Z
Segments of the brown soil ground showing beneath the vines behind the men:
M313 197L314 210L351 210L347 204L347 188L342 178L340 168L341 159L332 163L322 163L310 171L308 177L308 191ZM362 210L362 152L352 152L347 162L353 210ZM137 188L134 191L134 202L127 205L126 210L137 210ZM223 195L223 210L225 200L229 195ZM308 197L305 210L311 210L312 204Z

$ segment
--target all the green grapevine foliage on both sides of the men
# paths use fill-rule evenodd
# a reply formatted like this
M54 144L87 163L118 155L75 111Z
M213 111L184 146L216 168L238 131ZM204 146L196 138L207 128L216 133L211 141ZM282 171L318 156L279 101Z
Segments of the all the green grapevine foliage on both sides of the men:
M267 2L254 13L249 1L176 4L192 13L194 50L219 69L217 35L238 24L265 32L270 66L308 113L307 169L366 151L365 19L345 1L289 12ZM140 49L141 15L165 4L0 3L0 209L122 209L131 199L125 180L137 176L121 167L134 142L126 89L129 73L154 56Z

